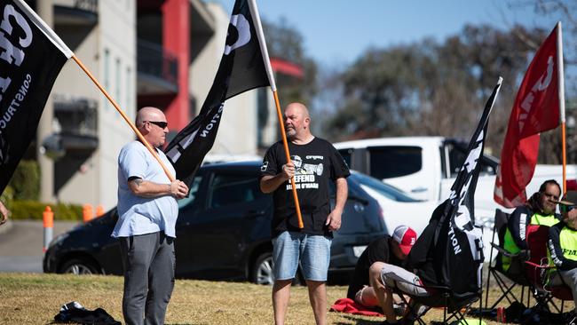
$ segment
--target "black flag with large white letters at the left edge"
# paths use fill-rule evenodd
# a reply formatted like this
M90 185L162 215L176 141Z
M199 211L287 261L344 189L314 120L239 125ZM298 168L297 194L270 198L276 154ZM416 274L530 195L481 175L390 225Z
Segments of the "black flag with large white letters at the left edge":
M0 190L8 185L71 52L21 0L0 4Z

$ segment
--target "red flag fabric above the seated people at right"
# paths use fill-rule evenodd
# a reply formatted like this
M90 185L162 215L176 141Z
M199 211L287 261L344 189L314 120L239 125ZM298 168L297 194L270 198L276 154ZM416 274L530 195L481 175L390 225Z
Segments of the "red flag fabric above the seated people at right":
M559 125L557 27L527 68L513 104L497 170L494 201L507 208L526 202L539 153L539 133Z

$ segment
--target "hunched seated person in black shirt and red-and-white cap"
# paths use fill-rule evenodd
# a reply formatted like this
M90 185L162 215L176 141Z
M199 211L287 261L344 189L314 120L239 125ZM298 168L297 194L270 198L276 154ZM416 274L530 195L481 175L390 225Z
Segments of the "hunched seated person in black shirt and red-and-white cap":
M346 297L359 305L374 307L379 305L375 290L369 287L368 270L375 262L401 266L408 252L416 242L416 233L408 226L398 226L390 235L385 235L368 244L367 249L357 260L357 266L349 284ZM400 299L397 299L400 303Z

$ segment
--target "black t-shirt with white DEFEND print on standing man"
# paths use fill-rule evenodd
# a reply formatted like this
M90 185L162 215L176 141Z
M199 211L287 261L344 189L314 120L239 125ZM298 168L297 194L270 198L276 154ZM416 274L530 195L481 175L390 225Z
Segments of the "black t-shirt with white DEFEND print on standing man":
M290 180L287 180L273 192L273 237L286 230L332 237L328 226L325 226L330 213L328 182L348 177L349 167L335 147L324 139L314 138L305 145L288 142L288 151L290 160L295 164L296 194L304 228L298 228L292 186ZM279 141L266 152L261 177L279 174L286 162L284 147L282 141Z

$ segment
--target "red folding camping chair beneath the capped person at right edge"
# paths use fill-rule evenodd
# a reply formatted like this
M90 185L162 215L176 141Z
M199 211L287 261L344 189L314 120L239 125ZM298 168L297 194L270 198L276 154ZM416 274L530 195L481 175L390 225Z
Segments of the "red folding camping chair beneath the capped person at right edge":
M526 277L534 287L537 306L549 311L550 305L557 313L563 313L565 300L573 301L573 293L565 283L557 286L549 285L550 275L558 271L555 266L549 266L548 240L549 226L531 225L527 227L526 241L531 256L526 261ZM561 300L561 307L555 304L553 298Z

